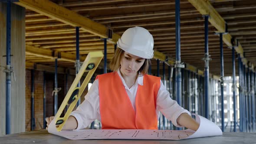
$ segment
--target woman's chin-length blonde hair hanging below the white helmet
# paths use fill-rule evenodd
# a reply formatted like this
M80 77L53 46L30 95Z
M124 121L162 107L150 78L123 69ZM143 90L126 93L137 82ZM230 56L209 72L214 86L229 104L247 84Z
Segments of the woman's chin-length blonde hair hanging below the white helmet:
M110 62L110 69L112 71L117 71L121 66L121 58L124 56L125 51L123 49L117 48L115 51L114 57L111 59ZM140 72L140 76L148 74L148 68L151 65L150 59L145 59L143 65L138 70Z

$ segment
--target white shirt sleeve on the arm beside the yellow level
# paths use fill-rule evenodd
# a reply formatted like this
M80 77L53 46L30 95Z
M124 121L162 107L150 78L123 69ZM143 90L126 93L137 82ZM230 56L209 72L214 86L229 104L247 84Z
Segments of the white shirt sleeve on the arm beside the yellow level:
M77 120L76 130L87 128L95 119L100 121L98 79L92 84L89 92L85 95L85 100L71 114Z

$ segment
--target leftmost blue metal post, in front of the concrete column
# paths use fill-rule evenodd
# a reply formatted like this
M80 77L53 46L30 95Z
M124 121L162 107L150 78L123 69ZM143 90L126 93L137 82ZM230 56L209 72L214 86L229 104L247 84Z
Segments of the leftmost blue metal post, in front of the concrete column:
M6 117L5 134L11 132L11 2L7 2L6 16Z

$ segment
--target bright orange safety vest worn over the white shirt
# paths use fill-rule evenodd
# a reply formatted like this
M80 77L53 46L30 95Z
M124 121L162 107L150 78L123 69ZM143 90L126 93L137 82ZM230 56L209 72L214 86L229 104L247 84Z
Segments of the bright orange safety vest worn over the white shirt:
M156 99L161 78L144 75L136 94L136 112L117 72L98 75L96 79L102 129L158 129Z

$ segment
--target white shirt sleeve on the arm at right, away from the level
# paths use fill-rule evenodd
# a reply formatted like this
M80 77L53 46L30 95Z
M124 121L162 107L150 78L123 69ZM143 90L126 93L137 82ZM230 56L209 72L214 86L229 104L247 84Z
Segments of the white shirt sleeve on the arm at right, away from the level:
M183 127L177 124L177 118L183 114L187 113L191 116L190 112L178 105L177 101L174 101L170 97L170 93L166 90L163 82L161 81L160 88L157 95L157 111L161 113L172 122L176 127Z

